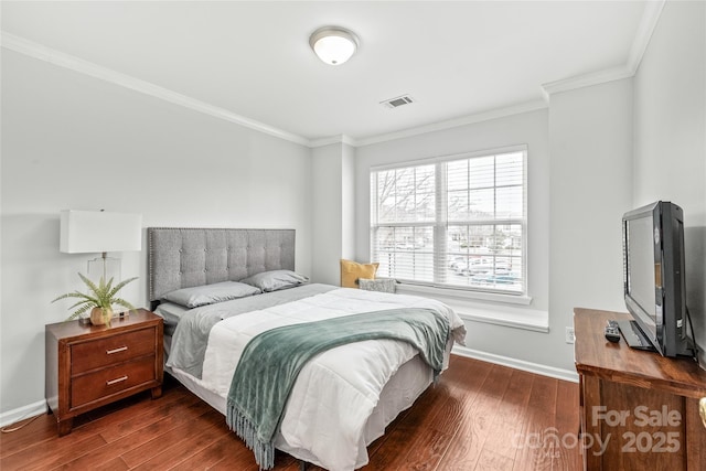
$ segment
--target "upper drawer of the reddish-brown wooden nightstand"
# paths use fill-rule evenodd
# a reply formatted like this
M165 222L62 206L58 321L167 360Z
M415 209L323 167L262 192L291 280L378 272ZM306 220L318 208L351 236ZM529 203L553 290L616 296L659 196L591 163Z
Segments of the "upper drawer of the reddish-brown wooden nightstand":
M151 328L72 345L71 374L73 376L153 353L156 336L156 330Z

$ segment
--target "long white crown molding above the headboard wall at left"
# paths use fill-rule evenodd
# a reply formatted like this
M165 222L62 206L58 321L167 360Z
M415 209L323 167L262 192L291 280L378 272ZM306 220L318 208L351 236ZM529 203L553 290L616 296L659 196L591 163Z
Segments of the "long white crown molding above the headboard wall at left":
M88 61L84 61L71 54L46 47L42 44L29 41L24 38L20 38L18 35L3 31L1 40L2 47L18 52L20 54L24 54L40 61L49 62L50 64L57 65L60 67L65 67L85 75L89 75L92 77L99 78L114 85L118 85L142 93L145 95L160 98L174 105L183 106L185 108L190 108L195 111L213 116L215 118L225 119L226 121L231 121L269 136L275 136L277 138L285 139L298 144L309 146L309 139L301 136L277 129L254 119L249 119L235 113L228 111L227 109L210 105L205 101L191 98L186 95L179 94L164 87L160 87L159 85L154 85L150 82L146 82L130 75L121 74L114 69L103 67Z

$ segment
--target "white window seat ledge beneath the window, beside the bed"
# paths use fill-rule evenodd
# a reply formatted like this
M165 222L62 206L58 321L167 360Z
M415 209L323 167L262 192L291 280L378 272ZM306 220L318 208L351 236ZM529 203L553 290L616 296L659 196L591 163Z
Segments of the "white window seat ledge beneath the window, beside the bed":
M416 285L398 285L397 292L437 299L448 304L461 319L467 321L549 332L549 313L547 311L522 307L532 302L531 297L470 292Z

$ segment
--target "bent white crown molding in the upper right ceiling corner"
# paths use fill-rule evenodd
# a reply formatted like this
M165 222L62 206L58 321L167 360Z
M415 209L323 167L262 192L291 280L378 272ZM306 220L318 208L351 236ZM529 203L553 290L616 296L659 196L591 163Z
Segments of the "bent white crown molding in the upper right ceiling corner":
M632 41L632 46L630 47L630 53L624 65L543 84L542 95L544 99L549 103L549 97L555 93L606 84L608 82L634 76L640 67L648 44L650 44L652 33L654 33L654 29L660 21L660 15L662 14L665 2L666 0L650 0L645 2L644 11L638 25L638 32Z

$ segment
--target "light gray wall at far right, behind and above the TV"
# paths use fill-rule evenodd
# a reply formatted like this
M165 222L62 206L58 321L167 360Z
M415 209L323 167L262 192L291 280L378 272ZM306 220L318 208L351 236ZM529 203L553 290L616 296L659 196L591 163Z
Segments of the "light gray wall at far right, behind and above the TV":
M706 349L706 3L665 3L634 103L633 202L684 210L686 302Z

